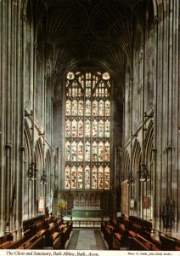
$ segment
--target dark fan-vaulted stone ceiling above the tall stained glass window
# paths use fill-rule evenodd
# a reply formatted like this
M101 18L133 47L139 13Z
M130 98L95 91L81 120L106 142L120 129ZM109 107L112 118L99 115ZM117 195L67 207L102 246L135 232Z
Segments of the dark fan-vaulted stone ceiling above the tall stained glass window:
M33 0L31 8L53 72L100 67L120 78L131 62L132 26L143 24L143 1Z

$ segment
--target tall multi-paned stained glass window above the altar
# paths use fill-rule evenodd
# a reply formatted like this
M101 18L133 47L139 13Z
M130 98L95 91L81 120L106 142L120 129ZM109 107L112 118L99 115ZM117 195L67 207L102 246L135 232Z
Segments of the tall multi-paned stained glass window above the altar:
M110 189L110 74L69 72L65 189Z

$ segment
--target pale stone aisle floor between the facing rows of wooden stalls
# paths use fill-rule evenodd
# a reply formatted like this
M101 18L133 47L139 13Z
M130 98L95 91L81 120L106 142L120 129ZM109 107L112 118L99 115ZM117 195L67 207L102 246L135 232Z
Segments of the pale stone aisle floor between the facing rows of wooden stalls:
M106 250L100 230L74 230L68 250Z

